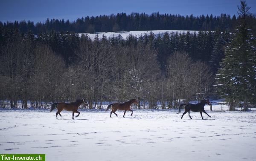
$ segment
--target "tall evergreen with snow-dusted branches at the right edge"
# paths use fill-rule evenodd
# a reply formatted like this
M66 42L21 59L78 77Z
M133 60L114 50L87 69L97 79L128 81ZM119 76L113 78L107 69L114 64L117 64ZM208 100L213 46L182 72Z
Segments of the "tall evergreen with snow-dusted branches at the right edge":
M235 101L244 101L244 110L248 109L248 101L255 101L256 44L247 22L249 9L245 1L241 1L239 24L216 75L218 93L230 101L231 110Z

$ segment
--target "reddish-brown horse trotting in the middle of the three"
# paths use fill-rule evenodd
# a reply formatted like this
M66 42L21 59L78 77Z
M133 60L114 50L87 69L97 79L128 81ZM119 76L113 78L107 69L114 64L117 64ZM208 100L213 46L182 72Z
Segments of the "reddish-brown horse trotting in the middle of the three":
M110 105L108 105L107 109L105 111L107 111L108 109L110 109L112 107L112 111L110 112L110 117L112 115L112 113L114 113L117 117L117 114L115 113L117 109L119 110L123 110L125 111L131 111L131 115L132 115L132 110L131 110L131 104L135 103L135 104L139 104L138 101L136 99L131 99L130 101L124 102L124 103L112 103ZM125 117L125 113L124 116Z

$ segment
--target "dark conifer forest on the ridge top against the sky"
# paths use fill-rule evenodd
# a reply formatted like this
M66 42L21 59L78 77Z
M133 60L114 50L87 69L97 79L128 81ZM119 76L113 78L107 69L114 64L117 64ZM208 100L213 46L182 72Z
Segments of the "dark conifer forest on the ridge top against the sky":
M93 32L120 32L140 30L202 30L202 31L230 31L236 26L239 17L236 15L221 14L219 16L193 14L182 16L180 14L152 13L117 13L111 15L87 16L70 20L58 20L49 18L45 22L15 21L0 22L0 28L19 29L26 33L32 31L38 35L41 32L69 32L69 33L93 33ZM254 25L256 19L250 15L250 21Z

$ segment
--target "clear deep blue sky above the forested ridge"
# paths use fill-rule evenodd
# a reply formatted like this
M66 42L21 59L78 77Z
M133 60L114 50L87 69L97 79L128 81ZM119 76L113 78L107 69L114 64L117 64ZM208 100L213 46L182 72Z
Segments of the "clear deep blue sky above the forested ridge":
M256 0L247 0L256 13ZM76 20L79 17L145 12L181 14L237 14L240 0L0 0L0 21L32 20L44 22L47 17Z

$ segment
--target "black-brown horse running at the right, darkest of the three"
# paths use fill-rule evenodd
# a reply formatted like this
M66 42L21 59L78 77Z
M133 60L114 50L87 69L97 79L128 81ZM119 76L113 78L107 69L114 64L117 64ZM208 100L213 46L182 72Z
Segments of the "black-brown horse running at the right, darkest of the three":
M185 115L185 114L188 112L189 118L192 119L191 116L190 116L190 110L191 110L191 111L193 111L193 112L200 112L202 119L204 119L204 118L203 118L203 115L202 115L202 112L204 112L206 115L208 115L208 114L205 112L205 110L204 110L204 105L205 105L206 103L207 103L208 105L211 105L211 103L209 102L208 99L207 99L207 100L201 100L201 102L200 102L200 103L197 103L197 104L191 104L191 103L188 103L188 104L180 104L180 106L179 106L179 112L178 112L178 113L180 113L180 111L181 111L180 108L185 105L185 112L183 113L183 115ZM181 119L183 118L183 115L181 116ZM211 118L210 115L208 115L208 116Z

